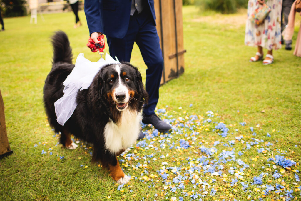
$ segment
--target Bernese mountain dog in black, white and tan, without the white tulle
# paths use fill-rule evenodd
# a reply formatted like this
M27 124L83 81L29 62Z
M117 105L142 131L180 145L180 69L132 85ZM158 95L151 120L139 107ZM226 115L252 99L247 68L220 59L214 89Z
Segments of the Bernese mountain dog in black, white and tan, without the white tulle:
M64 95L63 82L75 65L66 33L56 32L52 45L53 65L43 89L49 124L55 133L61 132L60 143L67 149L77 147L70 138L73 134L93 146L92 162L101 162L117 183L128 183L130 177L116 156L135 143L140 133L142 106L148 99L140 72L128 62L102 67L88 89L78 91L78 105L62 126L57 123L54 102Z

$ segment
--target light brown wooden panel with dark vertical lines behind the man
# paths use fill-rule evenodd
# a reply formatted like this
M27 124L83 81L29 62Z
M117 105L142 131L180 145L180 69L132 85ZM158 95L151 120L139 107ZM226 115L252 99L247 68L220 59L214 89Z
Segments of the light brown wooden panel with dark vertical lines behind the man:
M164 59L161 84L184 73L182 0L155 0L157 31Z

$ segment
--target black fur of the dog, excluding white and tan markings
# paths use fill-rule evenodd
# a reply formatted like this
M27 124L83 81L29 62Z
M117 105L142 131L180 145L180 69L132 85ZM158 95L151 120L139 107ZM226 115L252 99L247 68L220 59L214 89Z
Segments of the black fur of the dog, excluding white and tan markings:
M94 152L92 161L100 161L104 167L116 165L116 153L111 153L105 149L104 127L109 121L118 123L118 118L122 111L116 109L112 99L108 96L112 85L107 81L113 65L106 65L96 74L91 86L88 89L78 91L75 111L69 120L61 126L57 123L57 116L54 110L54 102L60 99L64 93L63 82L71 73L74 66L72 64L72 49L67 35L58 31L52 37L53 45L53 66L45 80L44 105L48 121L54 132L61 132L60 143L66 146L69 133L73 134L87 143L93 145ZM131 82L128 87L133 90L134 96L130 98L128 107L130 110L141 111L143 104L147 101L148 95L144 89L141 74L138 69L127 62L121 64L128 69ZM122 150L121 150L122 151Z

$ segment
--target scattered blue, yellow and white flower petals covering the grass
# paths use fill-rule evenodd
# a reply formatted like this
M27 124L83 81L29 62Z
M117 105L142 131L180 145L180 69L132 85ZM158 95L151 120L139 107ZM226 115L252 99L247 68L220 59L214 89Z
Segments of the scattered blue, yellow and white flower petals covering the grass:
M207 111L204 116L189 115L186 111L182 111L184 115L176 112L170 115L166 109L158 109L157 113L172 125L172 130L161 133L151 125L142 124L144 139L118 156L123 171L132 177L128 184L113 182L121 193L134 197L132 186L143 183L152 193L145 194L141 200L296 200L300 197L299 161L288 157L294 151L277 149L277 140L272 141L268 133L271 131L246 122L227 124L213 111ZM80 143L85 155L92 155L91 146L74 141ZM42 155L55 151L52 147L46 152L44 146ZM56 158L65 159L59 155ZM80 168L88 169L88 165Z

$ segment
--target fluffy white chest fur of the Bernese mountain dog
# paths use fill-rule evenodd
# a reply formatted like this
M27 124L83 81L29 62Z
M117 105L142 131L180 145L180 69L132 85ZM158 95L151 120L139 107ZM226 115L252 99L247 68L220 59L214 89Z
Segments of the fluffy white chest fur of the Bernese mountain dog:
M105 148L112 153L127 149L140 133L141 112L126 109L118 124L109 121L104 128Z

